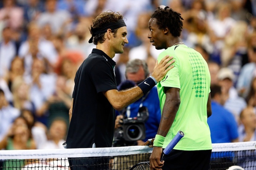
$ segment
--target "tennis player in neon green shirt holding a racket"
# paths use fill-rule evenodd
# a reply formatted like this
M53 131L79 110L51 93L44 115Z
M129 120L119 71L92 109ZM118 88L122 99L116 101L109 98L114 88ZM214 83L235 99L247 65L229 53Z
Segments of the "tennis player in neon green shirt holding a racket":
M151 169L208 170L212 150L207 117L211 115L210 72L200 53L181 38L183 18L168 6L158 9L148 22L148 38L156 49L174 57L174 68L157 83L161 122L150 156ZM160 161L162 149L181 130L184 137Z

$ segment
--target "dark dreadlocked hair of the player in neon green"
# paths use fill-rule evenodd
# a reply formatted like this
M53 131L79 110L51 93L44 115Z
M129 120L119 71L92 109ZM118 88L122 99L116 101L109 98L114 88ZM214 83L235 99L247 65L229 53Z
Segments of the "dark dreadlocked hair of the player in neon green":
M174 37L180 36L183 27L182 20L184 19L180 13L173 11L169 6L164 9L158 7L151 18L157 19L157 25L160 29L167 27Z

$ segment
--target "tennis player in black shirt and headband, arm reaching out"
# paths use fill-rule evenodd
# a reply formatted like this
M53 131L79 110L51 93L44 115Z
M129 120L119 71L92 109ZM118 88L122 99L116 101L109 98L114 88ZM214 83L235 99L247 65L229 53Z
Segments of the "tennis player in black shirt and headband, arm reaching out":
M152 75L137 87L118 91L113 57L123 53L128 40L123 16L118 12L107 11L95 19L90 28L89 43L96 49L82 63L76 73L73 103L69 111L70 125L67 135L67 148L111 147L115 126L115 112L135 102L159 82L173 66L173 57L166 56L156 66ZM69 159L71 169L89 164L94 166L77 169L107 169L104 159ZM106 162L105 162L106 163Z

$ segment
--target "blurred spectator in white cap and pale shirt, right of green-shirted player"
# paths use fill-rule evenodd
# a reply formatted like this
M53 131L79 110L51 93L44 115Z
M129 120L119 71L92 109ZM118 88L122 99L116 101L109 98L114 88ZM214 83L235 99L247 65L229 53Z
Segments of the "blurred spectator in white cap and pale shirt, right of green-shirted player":
M223 67L218 71L218 81L222 88L223 106L233 114L236 121L239 120L241 111L247 106L244 98L238 96L236 88L233 86L235 75L233 70Z

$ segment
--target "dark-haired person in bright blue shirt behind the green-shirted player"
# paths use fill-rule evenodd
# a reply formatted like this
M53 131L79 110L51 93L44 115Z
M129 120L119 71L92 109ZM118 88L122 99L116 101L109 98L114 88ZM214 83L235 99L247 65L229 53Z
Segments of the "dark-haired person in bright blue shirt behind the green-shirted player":
M238 142L238 126L235 117L226 110L223 104L222 91L219 85L211 85L212 115L207 123L210 127L212 143ZM210 169L227 169L232 164L232 153L220 153L211 155Z

